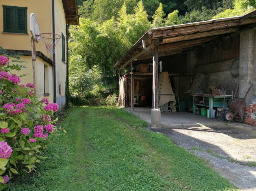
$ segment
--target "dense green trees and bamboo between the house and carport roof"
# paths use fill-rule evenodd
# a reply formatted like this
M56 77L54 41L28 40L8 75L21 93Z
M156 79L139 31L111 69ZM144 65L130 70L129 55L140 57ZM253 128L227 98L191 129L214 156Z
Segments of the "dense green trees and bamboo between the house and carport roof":
M119 74L113 65L148 29L244 15L256 2L78 0L78 5L80 26L69 30L70 93L73 103L87 103L91 98L106 98L106 92L118 92Z

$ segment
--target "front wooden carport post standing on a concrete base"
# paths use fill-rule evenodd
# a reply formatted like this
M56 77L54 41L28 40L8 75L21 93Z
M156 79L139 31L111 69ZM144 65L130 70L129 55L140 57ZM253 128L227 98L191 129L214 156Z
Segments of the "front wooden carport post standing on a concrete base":
M155 56L153 61L153 80L154 108L158 109L158 44L155 45Z

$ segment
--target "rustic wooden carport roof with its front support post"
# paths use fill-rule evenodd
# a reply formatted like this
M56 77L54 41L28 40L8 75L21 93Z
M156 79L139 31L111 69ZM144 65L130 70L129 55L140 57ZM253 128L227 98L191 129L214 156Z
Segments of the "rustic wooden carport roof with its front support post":
M158 64L156 63L159 58L193 50L197 46L217 40L226 34L255 27L255 24L256 10L244 16L149 29L114 67L121 70L130 66L131 70L133 65L151 63L153 58L152 89L154 108L157 109ZM143 48L143 42L147 48ZM130 71L130 75L132 75L132 71Z

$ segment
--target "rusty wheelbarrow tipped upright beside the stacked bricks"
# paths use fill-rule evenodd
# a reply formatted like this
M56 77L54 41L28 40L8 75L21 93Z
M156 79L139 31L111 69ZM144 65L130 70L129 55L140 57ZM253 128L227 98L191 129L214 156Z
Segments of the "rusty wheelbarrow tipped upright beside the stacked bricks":
M224 119L228 121L228 123L231 122L233 119L235 119L238 122L243 121L243 115L245 110L245 98L249 93L252 85L253 84L250 85L249 89L247 90L247 93L243 98L234 97L233 100L228 105L229 111L226 111L224 113Z

